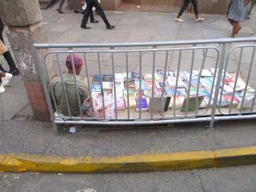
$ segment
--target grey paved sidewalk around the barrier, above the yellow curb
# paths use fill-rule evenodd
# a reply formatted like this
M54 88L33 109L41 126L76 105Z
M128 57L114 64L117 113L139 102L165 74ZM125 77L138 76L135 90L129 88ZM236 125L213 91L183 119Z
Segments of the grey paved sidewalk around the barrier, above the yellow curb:
M80 28L82 15L65 10L58 14L43 11L49 42L148 42L175 39L226 38L231 28L225 16L205 15L206 21L195 23L192 14L184 14L184 23L176 23L176 13L106 12L113 31L102 20ZM242 24L239 37L256 34L256 9ZM147 130L99 131L78 130L74 135L56 137L51 124L28 119L32 111L20 76L14 77L3 94L0 153L28 152L58 155L125 155L132 153L167 153L187 150L214 150L256 144L255 121L217 124L214 131L206 124L152 127ZM26 107L27 106L27 107ZM11 120L15 117L15 120ZM97 127L96 127L97 128ZM93 127L95 129L95 127Z

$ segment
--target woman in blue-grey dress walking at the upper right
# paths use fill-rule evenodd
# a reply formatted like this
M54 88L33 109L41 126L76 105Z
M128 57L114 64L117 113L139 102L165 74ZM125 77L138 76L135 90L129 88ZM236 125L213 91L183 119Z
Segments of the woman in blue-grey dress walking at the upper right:
M227 17L232 24L231 38L235 38L240 31L240 22L246 20L250 11L251 0L228 0Z

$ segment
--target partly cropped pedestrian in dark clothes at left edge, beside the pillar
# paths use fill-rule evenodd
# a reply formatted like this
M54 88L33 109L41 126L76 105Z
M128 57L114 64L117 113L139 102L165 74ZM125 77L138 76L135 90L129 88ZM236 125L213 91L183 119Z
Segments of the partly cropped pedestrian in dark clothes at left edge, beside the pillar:
M5 45L5 41L2 37L2 32L4 31L5 25L2 23L2 20L0 18L0 39L2 43ZM15 62L13 61L13 57L9 50L6 50L5 53L2 53L2 56L5 57L7 64L9 65L9 73L13 74L13 76L17 76L20 74L19 69L16 67ZM2 72L6 72L4 68L2 68L2 65L0 64L0 70Z

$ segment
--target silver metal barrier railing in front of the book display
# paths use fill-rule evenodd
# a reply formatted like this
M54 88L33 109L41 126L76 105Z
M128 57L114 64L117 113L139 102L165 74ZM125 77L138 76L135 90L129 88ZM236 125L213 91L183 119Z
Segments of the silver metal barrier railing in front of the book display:
M247 44L243 44L245 42ZM210 127L213 127L214 120L256 117L256 85L251 76L255 65L255 42L256 38L34 46L37 49L51 49L42 61L43 68L39 67L39 75L51 117L56 124L118 125L209 121ZM65 57L74 53L80 54L86 64L80 75L88 86L93 112L91 116L83 115L83 101L73 58L72 88L76 92L75 99L70 97L67 91L69 85L64 83ZM61 79L65 114L58 111L56 93L51 83L48 84L48 58L54 62ZM124 81L121 81L122 89L118 84L120 81L116 82L117 74L124 77ZM97 91L92 88L95 87L93 76L99 77L96 87L100 88ZM109 77L109 83L102 76ZM147 77L150 78L146 80ZM109 84L112 87L106 86ZM70 101L71 99L76 101ZM119 109L121 99L125 109ZM95 105L95 101L101 103L99 109L96 109L98 105ZM74 102L79 110L76 115L70 106ZM57 109L55 113L54 109Z

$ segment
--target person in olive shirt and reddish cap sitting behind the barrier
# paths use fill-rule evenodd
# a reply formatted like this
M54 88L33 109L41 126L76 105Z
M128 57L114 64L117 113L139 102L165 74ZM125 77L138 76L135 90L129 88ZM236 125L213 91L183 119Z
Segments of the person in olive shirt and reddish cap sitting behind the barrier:
M75 68L75 72L72 69ZM91 105L90 105L90 97L87 83L80 76L80 72L83 66L83 59L78 54L69 55L66 58L65 63L68 72L63 74L63 82L65 83L65 90L63 89L63 82L60 76L54 77L51 79L50 86L52 87L54 98L57 104L57 111L65 116L69 116L69 109L71 116L79 116L80 106L82 107L82 113L88 116L91 116ZM76 79L75 79L76 76ZM80 102L77 98L76 93L76 84L79 91ZM68 101L65 98L65 92L67 94ZM69 109L67 102L69 103Z

